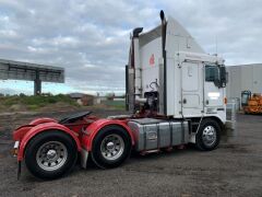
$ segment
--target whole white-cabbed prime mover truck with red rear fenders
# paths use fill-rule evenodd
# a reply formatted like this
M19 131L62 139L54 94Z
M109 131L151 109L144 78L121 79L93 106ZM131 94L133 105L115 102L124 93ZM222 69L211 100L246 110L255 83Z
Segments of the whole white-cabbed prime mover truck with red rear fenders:
M130 116L98 118L80 113L61 120L38 118L13 132L19 174L57 178L78 157L103 169L122 164L131 151L146 152L195 143L215 149L226 123L224 60L204 53L172 18L142 33L134 28L127 76Z

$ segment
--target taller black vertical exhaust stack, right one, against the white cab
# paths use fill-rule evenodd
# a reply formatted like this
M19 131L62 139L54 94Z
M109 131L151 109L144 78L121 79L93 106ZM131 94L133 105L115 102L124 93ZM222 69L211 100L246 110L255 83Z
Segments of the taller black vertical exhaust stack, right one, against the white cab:
M167 81L166 81L166 26L167 26L167 22L166 22L166 18L165 18L165 13L162 10L160 11L160 20L162 20L162 57L163 57L163 71L159 72L160 77L159 77L159 83L160 85L160 92L159 92L159 113L167 115Z

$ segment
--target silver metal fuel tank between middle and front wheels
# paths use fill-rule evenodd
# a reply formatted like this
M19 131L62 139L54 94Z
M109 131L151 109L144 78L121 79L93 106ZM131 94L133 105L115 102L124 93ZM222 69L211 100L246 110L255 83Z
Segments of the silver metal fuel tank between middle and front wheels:
M154 118L131 119L135 150L144 151L165 147L184 144L189 141L188 121L166 121Z

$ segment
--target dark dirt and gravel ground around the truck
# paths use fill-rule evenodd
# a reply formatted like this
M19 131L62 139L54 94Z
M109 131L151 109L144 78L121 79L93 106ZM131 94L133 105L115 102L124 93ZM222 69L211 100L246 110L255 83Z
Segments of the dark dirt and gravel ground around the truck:
M23 166L17 181L16 160L10 154L13 128L34 117L66 114L0 115L0 196L262 196L262 116L252 115L238 115L238 136L224 139L211 152L188 147L169 153L132 155L117 169L75 166L66 177L49 182L35 178Z

